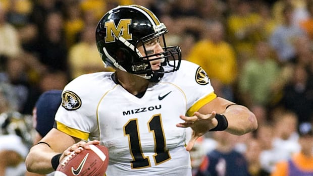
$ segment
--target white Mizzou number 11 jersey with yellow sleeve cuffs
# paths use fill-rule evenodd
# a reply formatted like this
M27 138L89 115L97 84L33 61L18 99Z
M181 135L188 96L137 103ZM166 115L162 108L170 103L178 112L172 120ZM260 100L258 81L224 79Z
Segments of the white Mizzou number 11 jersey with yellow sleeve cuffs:
M206 73L182 61L177 72L151 83L138 98L112 72L82 75L62 94L57 129L109 149L107 175L191 175L179 115L192 115L216 98Z

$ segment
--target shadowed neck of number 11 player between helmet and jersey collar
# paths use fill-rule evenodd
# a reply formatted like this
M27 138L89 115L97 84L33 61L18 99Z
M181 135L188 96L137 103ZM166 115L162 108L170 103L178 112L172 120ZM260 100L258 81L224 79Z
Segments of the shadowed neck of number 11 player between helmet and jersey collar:
M127 72L117 71L115 74L119 84L133 95L145 92L149 85L148 80Z

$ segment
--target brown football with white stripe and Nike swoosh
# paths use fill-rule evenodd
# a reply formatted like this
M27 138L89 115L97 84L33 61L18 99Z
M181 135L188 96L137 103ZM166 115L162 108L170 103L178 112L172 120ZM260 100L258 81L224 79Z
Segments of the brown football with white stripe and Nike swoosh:
M109 165L109 150L102 145L89 145L90 150L74 151L59 164L55 176L103 176Z

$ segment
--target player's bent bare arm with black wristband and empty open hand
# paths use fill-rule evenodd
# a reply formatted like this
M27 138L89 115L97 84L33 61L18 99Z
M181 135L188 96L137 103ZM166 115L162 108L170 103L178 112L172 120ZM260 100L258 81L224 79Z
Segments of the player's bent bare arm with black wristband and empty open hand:
M185 122L177 124L177 127L190 127L193 130L192 138L186 147L188 151L192 149L198 137L212 129L225 130L235 135L243 135L257 129L255 115L247 107L221 97L200 107L193 116L180 115L180 118Z

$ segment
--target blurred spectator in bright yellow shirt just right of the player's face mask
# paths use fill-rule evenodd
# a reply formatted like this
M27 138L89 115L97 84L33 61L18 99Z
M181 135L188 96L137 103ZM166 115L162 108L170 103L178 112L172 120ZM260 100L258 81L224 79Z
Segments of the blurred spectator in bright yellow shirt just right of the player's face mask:
M210 73L208 76L221 85L221 97L234 100L233 83L237 79L237 60L232 46L225 41L225 27L215 21L207 24L202 40L197 41L189 52L187 60Z

